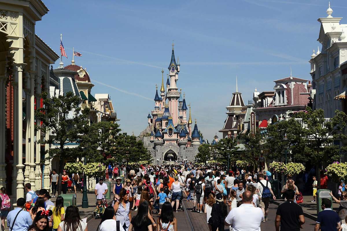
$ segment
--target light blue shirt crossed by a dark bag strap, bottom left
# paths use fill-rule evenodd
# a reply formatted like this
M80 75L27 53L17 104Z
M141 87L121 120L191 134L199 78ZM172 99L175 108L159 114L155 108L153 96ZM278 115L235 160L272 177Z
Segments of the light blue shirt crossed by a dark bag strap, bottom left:
M22 208L15 208L14 210L10 211L7 215L7 222L9 224L9 227L12 227L12 223L15 220L15 217L19 210L23 210ZM29 212L27 211L21 211L15 221L15 224L13 226L13 231L27 231L29 226L33 223L31 220L31 216Z

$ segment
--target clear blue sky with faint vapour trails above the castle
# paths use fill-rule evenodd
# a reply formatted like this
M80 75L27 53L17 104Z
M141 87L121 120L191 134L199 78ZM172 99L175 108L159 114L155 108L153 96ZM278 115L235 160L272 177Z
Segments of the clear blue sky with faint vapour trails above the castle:
M245 103L255 87L272 90L273 80L289 76L290 67L293 76L310 80L307 61L320 45L317 19L326 17L328 8L323 0L44 3L50 11L36 23L36 34L58 54L63 34L64 65L70 64L72 47L83 54L75 64L87 68L93 95L110 94L128 134L147 126L155 84L161 84L162 68L164 77L168 73L174 40L181 64L177 86L210 142L226 119L236 75ZM333 17L345 16L346 1L330 3Z

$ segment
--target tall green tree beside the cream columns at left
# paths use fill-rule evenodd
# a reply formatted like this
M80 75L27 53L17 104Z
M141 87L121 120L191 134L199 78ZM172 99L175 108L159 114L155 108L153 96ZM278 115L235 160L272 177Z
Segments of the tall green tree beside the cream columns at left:
M71 149L65 145L69 143L79 143L83 128L88 126L89 109L81 112L79 103L81 98L75 96L73 92L67 92L65 96L49 98L46 92L43 92L43 107L35 111L35 116L40 119L41 124L36 128L41 131L49 130L52 135L48 140L40 140L41 144L57 144L57 148L49 149L48 158L59 157L59 174L62 174L64 161L71 154ZM65 148L64 148L65 147ZM61 181L59 181L58 194L61 190Z

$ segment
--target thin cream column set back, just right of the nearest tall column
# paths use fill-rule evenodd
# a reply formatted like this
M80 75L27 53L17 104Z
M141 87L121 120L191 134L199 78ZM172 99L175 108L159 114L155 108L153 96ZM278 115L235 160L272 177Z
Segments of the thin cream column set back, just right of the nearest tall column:
M30 136L30 79L29 77L26 78L26 89L25 89L25 170L24 170L24 184L29 183L29 156L30 156L30 143L29 143L29 136Z

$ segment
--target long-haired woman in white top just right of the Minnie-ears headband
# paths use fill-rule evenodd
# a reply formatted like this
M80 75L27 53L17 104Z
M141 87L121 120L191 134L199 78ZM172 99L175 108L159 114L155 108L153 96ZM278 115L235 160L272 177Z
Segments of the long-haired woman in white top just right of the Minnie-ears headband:
M60 222L58 231L88 231L87 223L81 220L76 206L66 208L65 220Z

